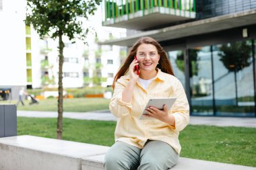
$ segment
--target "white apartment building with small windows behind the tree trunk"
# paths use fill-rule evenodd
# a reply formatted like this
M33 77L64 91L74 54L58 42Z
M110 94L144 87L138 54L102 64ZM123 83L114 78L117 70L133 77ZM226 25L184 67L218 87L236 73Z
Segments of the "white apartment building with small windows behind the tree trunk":
M63 87L92 87L94 85L106 87L112 85L113 77L121 64L120 54L126 52L126 47L100 46L97 42L109 40L109 38L125 37L126 30L102 27L101 16L102 13L99 7L95 15L84 22L85 27L92 30L86 38L86 44L82 40L76 40L72 44L68 38L63 38L65 44L63 52ZM42 80L33 80L33 88L42 87L42 85L57 87L59 71L57 44L58 40L50 38L41 40L40 63L46 63L46 65L41 65ZM35 71L36 68L33 68L32 65L33 73L40 72L40 69ZM33 77L33 79L35 78Z

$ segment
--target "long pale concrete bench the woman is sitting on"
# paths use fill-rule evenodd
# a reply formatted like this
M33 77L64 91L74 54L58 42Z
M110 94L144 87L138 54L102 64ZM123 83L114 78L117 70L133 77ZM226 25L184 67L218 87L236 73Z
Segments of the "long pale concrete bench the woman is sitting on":
M1 170L102 170L108 146L42 138L13 136L0 138ZM256 170L255 167L230 165L180 158L172 170Z

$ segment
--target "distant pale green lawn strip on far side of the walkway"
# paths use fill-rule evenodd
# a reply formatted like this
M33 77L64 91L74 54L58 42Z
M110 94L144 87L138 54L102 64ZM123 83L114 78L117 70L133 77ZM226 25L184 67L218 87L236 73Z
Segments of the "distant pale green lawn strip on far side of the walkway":
M9 103L9 101L0 101ZM17 101L11 101L17 103ZM31 111L57 111L57 99L42 99L38 104L29 105L30 101L25 100L25 105L21 103L17 110ZM104 98L73 98L63 100L64 112L89 112L93 110L108 110L109 99Z

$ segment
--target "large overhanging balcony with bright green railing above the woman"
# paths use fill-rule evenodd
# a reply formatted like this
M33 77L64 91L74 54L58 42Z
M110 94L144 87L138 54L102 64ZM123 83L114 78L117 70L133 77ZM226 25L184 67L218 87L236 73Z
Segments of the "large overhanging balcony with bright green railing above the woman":
M195 18L195 0L104 0L103 26L145 30Z

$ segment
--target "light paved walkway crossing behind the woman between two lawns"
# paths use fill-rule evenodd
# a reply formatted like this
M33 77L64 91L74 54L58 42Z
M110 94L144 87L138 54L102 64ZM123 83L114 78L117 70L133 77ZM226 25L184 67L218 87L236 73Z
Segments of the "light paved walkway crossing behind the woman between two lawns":
M39 111L17 111L18 116L32 118L57 118L57 112L39 112ZM114 120L117 118L110 114L108 110L96 112L64 112L64 118L78 120ZM208 116L191 116L190 124L212 125L212 126L237 126L256 128L256 118L228 118L228 117L208 117Z

